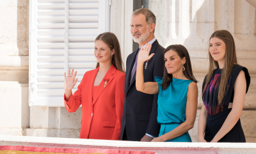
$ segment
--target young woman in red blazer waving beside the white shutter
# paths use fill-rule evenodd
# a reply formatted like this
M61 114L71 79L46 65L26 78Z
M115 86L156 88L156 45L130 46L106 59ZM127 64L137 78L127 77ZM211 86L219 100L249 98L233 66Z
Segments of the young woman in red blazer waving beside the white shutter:
M72 94L76 72L65 75L64 103L68 112L82 105L81 139L120 140L124 105L124 65L120 45L113 33L102 33L95 39L95 70L84 77ZM74 74L73 74L74 72Z

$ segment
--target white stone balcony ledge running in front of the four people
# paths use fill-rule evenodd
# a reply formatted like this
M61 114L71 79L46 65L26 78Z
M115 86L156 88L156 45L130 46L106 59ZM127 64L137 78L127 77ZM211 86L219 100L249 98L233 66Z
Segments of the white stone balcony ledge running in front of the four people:
M256 143L134 142L0 135L0 146L114 149L164 153L256 153ZM0 151L1 152L1 151Z

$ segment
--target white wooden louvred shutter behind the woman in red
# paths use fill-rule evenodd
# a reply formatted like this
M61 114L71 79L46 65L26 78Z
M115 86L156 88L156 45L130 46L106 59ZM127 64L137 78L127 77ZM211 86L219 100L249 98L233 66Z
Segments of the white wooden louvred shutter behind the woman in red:
M64 72L95 69L94 40L109 31L108 0L31 0L29 105L64 106Z

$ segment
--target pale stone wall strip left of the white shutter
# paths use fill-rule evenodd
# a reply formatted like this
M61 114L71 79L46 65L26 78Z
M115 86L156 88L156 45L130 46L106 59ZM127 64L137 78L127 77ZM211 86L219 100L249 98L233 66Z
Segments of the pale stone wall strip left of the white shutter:
M0 2L0 134L29 127L28 2Z

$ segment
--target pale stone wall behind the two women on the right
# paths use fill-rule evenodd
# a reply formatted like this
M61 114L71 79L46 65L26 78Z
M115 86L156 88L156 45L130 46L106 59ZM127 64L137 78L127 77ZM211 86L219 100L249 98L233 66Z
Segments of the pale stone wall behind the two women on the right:
M202 82L207 74L207 47L211 34L219 29L232 33L239 65L246 66L251 84L241 123L247 142L256 142L256 16L255 1L245 0L150 0L149 9L157 17L156 38L161 45L184 45L190 54L193 73L198 82L198 112L194 128L189 131L197 141L198 116L202 107ZM164 11L163 11L164 10Z

